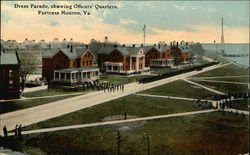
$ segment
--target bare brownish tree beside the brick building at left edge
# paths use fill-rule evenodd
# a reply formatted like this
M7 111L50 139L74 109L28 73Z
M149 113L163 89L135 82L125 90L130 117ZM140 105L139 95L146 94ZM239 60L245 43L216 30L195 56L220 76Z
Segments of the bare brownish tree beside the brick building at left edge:
M36 56L30 52L21 52L19 57L21 61L20 78L21 89L23 93L29 75L36 70L38 60Z

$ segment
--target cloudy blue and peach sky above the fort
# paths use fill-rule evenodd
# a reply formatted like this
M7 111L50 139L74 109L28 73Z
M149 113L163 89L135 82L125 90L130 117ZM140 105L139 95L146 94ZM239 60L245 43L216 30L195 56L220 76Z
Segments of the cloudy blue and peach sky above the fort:
M29 8L14 8L14 5ZM91 5L92 9L33 9L31 4ZM118 9L96 9L112 5ZM41 11L89 11L91 15L38 15ZM82 13L83 14L83 13ZM91 39L122 44L165 41L220 42L221 18L225 43L249 43L249 1L2 1L1 39L46 42L66 38L89 43Z

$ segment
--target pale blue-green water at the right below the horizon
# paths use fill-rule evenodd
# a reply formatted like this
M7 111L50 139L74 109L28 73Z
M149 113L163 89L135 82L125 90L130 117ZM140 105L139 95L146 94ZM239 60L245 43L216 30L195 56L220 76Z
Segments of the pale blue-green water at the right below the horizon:
M202 44L205 50L215 52L215 44ZM221 46L218 44L218 52L221 51ZM249 54L249 44L225 44L225 53L227 54ZM232 62L236 62L243 66L249 67L249 56L244 57L227 57Z

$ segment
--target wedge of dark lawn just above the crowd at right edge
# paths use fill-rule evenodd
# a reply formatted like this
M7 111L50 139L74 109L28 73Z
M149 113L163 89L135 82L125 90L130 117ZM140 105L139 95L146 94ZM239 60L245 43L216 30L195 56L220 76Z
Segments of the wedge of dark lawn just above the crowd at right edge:
M248 86L242 84L203 82L203 81L195 81L195 82L224 93L247 92L248 90Z

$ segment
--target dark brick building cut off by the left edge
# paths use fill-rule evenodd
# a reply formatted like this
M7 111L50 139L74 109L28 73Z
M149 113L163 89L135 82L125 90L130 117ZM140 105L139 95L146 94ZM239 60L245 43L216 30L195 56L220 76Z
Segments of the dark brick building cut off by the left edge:
M20 60L17 52L0 51L0 99L20 97Z

